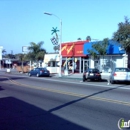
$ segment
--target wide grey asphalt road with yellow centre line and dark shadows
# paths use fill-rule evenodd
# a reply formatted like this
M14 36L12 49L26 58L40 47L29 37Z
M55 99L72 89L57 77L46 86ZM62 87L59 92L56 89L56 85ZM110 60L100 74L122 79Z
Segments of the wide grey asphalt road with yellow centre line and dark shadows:
M130 85L0 75L0 130L119 130Z

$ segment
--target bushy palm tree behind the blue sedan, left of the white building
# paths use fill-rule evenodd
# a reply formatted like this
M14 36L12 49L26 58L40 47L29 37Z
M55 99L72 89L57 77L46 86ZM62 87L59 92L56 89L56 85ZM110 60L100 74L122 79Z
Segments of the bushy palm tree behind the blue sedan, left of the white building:
M42 48L43 42L34 43L31 42L28 47L29 53L27 54L27 58L29 60L38 62L44 59L44 55L46 54L46 50Z

